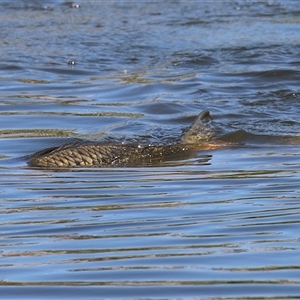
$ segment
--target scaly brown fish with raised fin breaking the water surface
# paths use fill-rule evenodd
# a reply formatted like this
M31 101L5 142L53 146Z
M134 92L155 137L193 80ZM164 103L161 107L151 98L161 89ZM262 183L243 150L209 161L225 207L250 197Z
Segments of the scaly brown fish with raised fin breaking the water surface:
M200 113L181 136L179 144L140 146L77 142L39 151L31 157L28 164L32 167L45 168L133 166L164 160L183 153L217 149L224 145L219 142L208 142L210 138L208 133L211 132L205 122L209 117L208 111Z

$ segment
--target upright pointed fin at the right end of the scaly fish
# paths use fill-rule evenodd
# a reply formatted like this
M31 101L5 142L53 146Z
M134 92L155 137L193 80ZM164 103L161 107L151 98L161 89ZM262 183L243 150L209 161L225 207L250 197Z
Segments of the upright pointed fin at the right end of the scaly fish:
M181 135L180 140L186 144L197 144L211 139L213 132L208 127L212 117L208 110L202 111L190 127Z

